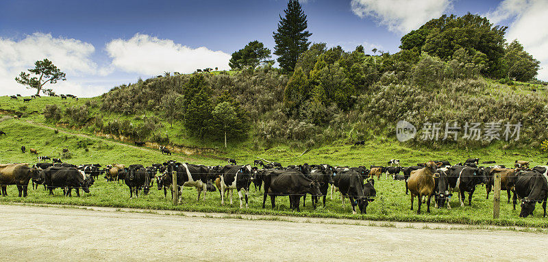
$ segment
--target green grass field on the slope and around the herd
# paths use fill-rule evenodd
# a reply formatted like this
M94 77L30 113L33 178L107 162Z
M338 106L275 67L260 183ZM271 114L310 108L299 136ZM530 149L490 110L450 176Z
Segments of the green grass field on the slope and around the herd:
M40 112L42 103L57 103L58 98L42 98L36 100L36 105L27 105L28 111ZM51 99L51 101L46 100ZM80 101L62 101L67 103L84 103ZM6 105L1 99L0 109L13 109L21 101L9 101L13 105ZM40 103L40 104L38 104ZM29 121L29 122L27 122ZM28 152L21 153L21 146L36 148L38 155L48 155L49 157L60 157L62 148L69 148L71 159L63 161L74 164L81 163L101 163L102 165L110 163L142 163L145 166L151 163L161 163L168 159L177 161L187 161L189 163L202 163L206 165L225 164L225 161L219 157L231 157L238 160L238 163L253 163L254 159L264 158L270 161L278 161L284 166L298 163L329 163L339 166L370 166L386 165L389 159L400 159L402 166L410 166L429 159L446 159L451 163L458 163L471 157L479 157L482 161L495 160L497 163L512 166L516 159L526 159L532 161L532 165L543 165L546 163L546 154L538 150L504 150L502 144L492 144L485 148L477 148L470 152L445 146L438 150L424 147L411 147L406 144L390 140L369 140L364 146L353 146L345 142L333 142L325 146L312 148L308 153L303 153L302 149L290 148L289 146L276 146L268 150L253 150L247 144L240 146L229 146L227 150L216 150L212 157L204 155L184 155L174 154L173 156L162 155L157 148L138 148L129 144L123 144L114 140L105 140L101 137L86 137L84 131L71 130L62 127L55 127L60 132L55 133L52 129L44 127L48 125L43 122L41 114L28 114L21 120L14 120L9 115L0 114L0 130L8 135L0 137L0 163L28 162L35 163L36 155L30 155ZM248 143L249 144L249 143ZM27 198L18 198L16 187L8 186L10 196L0 198L0 202L32 202L32 203L51 203L66 205L95 205L104 207L136 207L145 209L176 209L183 211L205 211L205 212L223 212L223 213L251 213L251 214L283 214L297 216L314 216L329 218L352 218L360 220L387 220L387 221L409 221L409 222L448 222L464 224L493 224L505 226L534 226L548 228L548 220L542 218L542 208L536 206L533 218L519 218L519 209L512 210L512 206L506 204L506 192L501 196L501 218L492 219L493 202L486 200L485 187L479 185L473 196L472 207L460 207L458 198L455 195L451 200L453 209L434 209L432 213L426 214L423 209L421 215L415 211L410 211L410 196L405 194L405 183L402 181L387 181L386 176L375 183L377 189L377 198L369 205L367 215L352 215L350 207L343 209L340 205L338 193L333 200L327 199L327 207L319 207L314 210L311 207L310 197L307 199L307 207L301 209L300 213L292 212L288 209L289 202L287 197L277 198L277 208L271 209L270 200L266 201L266 209L262 209L262 193L251 189L251 199L249 209L239 209L239 200L234 198L234 205L221 206L219 192L208 194L206 202L196 201L195 189L186 188L184 190L184 200L182 205L174 207L169 199L164 199L163 191L155 188L148 196L129 199L129 190L127 186L117 183L107 183L104 179L93 185L90 194L83 194L81 198L63 197L60 189L57 189L55 196L48 196L43 187L37 190L29 189ZM237 196L237 194L235 194ZM466 201L467 203L467 201ZM302 204L302 203L301 203ZM416 204L416 202L415 202ZM433 204L432 204L433 205Z

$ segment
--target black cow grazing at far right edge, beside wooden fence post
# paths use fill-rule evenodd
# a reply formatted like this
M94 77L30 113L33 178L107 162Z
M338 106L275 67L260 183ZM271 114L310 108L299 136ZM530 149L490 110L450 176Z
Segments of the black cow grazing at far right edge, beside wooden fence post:
M540 170L542 171L542 170ZM546 217L546 202L548 200L547 167L544 172L537 170L521 171L516 178L516 194L521 198L521 218L533 215L536 202L543 203L543 217Z

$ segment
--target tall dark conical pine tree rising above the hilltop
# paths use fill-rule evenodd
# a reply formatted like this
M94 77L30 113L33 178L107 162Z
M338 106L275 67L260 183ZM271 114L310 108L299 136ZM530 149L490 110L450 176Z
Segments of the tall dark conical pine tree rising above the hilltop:
M277 61L279 66L286 72L292 72L295 69L295 64L299 59L299 55L308 50L308 37L311 33L305 31L308 27L306 14L301 9L301 4L298 0L289 0L287 9L284 10L286 16L279 16L277 31L273 32L274 54L278 56Z

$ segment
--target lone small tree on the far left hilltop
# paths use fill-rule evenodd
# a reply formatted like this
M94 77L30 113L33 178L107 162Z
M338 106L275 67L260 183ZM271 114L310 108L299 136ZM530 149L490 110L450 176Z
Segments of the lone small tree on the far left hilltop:
M35 67L29 69L29 72L36 77L31 77L31 74L21 72L18 77L15 77L17 83L21 83L28 89L35 88L36 94L40 94L40 91L44 88L46 83L57 83L57 81L65 81L65 74L57 68L51 61L44 59L42 61L36 61ZM51 89L45 89L44 92L53 92Z

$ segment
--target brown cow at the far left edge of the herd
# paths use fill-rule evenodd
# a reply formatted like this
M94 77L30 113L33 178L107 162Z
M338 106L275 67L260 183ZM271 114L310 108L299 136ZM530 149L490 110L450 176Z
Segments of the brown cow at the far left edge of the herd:
M17 185L19 197L27 197L30 179L38 179L38 170L29 168L28 163L0 164L0 187L2 196L8 196L7 185Z

